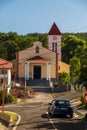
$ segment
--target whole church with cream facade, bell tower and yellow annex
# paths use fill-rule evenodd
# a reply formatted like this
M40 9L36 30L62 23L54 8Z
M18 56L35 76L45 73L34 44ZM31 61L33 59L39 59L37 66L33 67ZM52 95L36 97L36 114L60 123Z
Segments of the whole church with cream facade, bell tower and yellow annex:
M69 73L69 65L61 58L61 32L53 23L47 39L48 48L42 46L40 41L33 43L32 47L16 53L17 75L25 85L39 85L54 81L59 73Z

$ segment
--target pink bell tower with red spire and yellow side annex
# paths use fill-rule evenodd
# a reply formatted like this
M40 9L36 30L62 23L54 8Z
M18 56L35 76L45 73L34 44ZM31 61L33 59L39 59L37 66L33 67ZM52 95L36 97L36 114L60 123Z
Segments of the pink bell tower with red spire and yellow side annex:
M61 37L62 33L60 32L56 23L53 23L48 33L48 48L58 54L58 73L66 72L69 74L70 65L62 62Z

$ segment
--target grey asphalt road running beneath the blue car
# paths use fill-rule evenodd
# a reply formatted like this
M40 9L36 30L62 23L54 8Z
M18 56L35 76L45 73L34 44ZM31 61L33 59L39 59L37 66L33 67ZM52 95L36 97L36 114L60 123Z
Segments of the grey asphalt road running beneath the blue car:
M72 97L73 100L76 95L64 94L63 97ZM35 99L5 107L5 110L16 112L21 116L16 130L87 130L87 123L75 114L72 119L67 116L50 118L47 107L52 96L49 93L39 93L36 96Z

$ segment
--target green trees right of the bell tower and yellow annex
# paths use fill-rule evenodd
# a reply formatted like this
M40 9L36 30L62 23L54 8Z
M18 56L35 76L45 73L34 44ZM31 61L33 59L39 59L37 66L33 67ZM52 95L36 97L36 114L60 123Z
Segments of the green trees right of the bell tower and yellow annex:
M80 39L80 34L76 36L66 34L63 38L62 59L71 65L71 80L82 84L87 80L87 41ZM87 38L86 35L85 38Z

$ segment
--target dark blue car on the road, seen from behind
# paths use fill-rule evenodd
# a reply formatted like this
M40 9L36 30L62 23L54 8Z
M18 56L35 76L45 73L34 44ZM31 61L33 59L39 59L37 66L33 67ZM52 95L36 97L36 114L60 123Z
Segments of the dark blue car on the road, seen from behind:
M48 106L48 114L51 117L55 115L69 115L73 117L73 108L69 99L55 98Z

